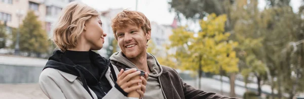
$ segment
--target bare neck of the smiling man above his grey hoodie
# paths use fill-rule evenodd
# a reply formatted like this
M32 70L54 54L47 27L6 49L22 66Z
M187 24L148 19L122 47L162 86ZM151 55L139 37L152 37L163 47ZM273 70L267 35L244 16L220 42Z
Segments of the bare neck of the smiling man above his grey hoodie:
M146 73L150 73L148 64L147 64L147 55L144 53L136 58L129 59L139 70L142 70Z

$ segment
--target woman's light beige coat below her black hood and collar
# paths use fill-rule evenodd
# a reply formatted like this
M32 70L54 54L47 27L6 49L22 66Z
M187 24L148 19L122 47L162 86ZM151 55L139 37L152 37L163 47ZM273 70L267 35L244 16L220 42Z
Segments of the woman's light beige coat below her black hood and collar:
M113 66L116 75L119 71L116 66ZM115 83L112 80L110 67L105 74L107 80L112 86L112 89L103 98L128 98L114 87ZM92 98L88 91L83 87L82 82L77 76L62 72L53 68L46 68L42 71L39 77L39 84L43 92L49 98ZM96 94L89 88L94 99L97 99Z

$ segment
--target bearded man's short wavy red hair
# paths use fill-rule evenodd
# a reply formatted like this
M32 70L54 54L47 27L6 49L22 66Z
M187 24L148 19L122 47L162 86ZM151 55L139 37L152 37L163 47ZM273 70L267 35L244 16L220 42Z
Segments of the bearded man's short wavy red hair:
M151 31L151 24L148 18L141 12L124 10L117 14L112 19L112 30L115 38L117 39L116 32L118 29L127 27L128 25L136 25L140 27L145 33Z

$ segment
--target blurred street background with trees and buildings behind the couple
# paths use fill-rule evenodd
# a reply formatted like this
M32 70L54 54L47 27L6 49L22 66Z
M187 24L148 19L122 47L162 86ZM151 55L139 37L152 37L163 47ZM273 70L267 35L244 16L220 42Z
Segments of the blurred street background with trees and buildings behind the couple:
M147 52L196 88L241 98L304 98L303 0L1 0L0 98L47 98L37 84L56 49L62 8L98 10L101 56L120 51L111 19L129 9L151 21Z

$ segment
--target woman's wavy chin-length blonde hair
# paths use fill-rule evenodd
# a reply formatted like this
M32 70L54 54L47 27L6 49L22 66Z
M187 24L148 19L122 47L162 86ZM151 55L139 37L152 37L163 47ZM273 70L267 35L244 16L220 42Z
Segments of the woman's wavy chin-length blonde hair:
M100 13L81 2L71 2L62 11L54 25L52 40L61 51L73 48L84 31L85 22Z

